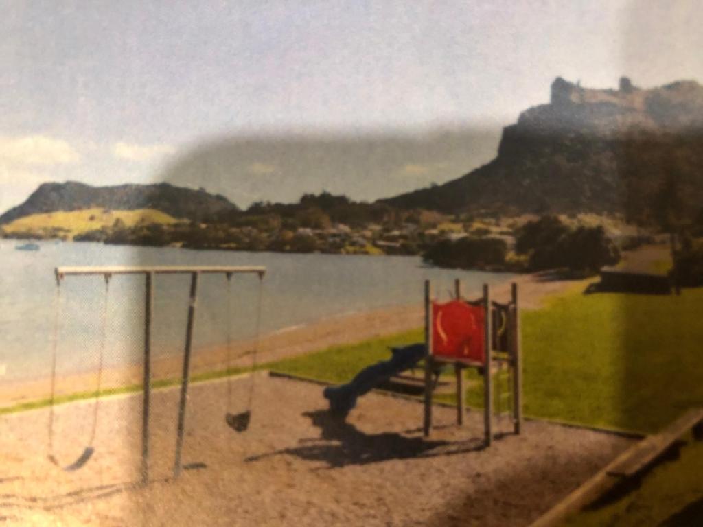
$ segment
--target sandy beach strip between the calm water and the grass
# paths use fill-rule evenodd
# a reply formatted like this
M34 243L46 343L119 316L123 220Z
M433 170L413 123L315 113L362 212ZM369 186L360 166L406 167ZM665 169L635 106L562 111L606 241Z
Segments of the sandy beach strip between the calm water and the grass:
M546 297L560 294L582 283L574 280L545 281L541 275L519 275L514 280L494 286L491 296L499 301L507 300L512 282L516 282L520 288L520 308L528 310L539 308ZM424 324L423 311L422 302L418 302L409 306L342 313L304 325L284 327L259 337L257 365L321 351L330 346L352 345L369 339L419 330ZM208 373L221 373L221 377L228 377L242 369L252 367L256 340L254 338L234 342L231 347L231 361L228 361L226 346L195 348L191 356L191 378ZM154 358L151 365L153 385L179 382L182 375L182 362L182 353ZM236 371L228 374L229 369ZM25 410L25 408L16 408L18 405L30 406L26 410L48 405L51 393L50 383L50 379L44 377L22 379L0 386L0 412ZM102 372L101 391L103 392L141 391L141 384L143 384L141 364L109 367ZM59 400L70 396L76 396L77 400L92 398L96 388L97 372L82 372L56 378L56 398ZM109 396L109 394L103 394L103 396Z

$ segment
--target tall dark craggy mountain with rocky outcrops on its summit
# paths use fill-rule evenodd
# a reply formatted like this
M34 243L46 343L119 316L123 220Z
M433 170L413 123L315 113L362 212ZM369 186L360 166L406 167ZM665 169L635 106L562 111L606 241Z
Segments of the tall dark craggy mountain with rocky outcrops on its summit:
M672 183L673 181L673 183ZM649 221L673 186L703 204L703 86L586 89L557 78L549 104L505 127L498 156L443 185L380 200L441 212L614 213Z

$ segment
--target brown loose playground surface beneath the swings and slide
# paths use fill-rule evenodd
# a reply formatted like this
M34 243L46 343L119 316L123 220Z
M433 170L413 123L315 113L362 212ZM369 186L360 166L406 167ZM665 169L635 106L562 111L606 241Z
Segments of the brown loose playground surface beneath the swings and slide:
M231 383L245 400L250 378ZM250 428L224 423L227 382L193 385L183 463L170 479L178 390L153 395L151 483L138 488L141 396L101 403L96 453L63 472L46 460L48 410L0 420L0 523L104 526L518 526L624 450L631 440L527 422L482 448L482 414L437 407L432 436L422 405L380 393L339 422L321 386L254 376ZM241 403L240 403L241 404ZM56 410L56 455L68 462L89 437L90 403ZM231 410L243 410L239 405ZM507 417L498 432L510 430Z

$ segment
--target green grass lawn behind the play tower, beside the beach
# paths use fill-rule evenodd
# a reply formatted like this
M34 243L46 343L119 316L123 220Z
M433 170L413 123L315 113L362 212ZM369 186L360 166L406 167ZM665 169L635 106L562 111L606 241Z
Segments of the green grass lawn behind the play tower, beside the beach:
M569 292L545 308L524 311L525 413L651 432L685 408L702 405L702 308L703 291L689 289L681 297ZM341 383L388 358L389 345L422 339L417 330L268 367ZM480 386L468 391L467 402L481 405Z

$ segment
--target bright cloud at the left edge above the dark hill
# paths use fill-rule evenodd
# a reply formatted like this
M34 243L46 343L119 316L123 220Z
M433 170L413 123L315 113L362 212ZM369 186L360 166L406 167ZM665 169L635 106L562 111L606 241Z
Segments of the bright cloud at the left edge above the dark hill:
M0 164L51 166L79 162L81 156L66 141L46 136L0 137Z

